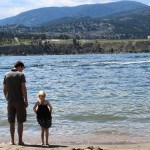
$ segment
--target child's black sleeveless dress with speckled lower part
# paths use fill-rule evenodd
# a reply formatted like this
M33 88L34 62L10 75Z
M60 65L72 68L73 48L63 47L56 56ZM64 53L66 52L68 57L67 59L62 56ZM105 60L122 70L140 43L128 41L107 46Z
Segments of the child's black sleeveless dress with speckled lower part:
M51 112L47 105L38 105L37 109L37 121L42 128L50 128L52 125Z

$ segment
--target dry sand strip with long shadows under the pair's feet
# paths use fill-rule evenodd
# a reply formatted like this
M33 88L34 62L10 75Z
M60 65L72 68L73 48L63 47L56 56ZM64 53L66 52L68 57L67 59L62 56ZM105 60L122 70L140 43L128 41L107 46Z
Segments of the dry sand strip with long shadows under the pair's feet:
M150 150L150 144L113 144L113 145L0 145L0 150Z

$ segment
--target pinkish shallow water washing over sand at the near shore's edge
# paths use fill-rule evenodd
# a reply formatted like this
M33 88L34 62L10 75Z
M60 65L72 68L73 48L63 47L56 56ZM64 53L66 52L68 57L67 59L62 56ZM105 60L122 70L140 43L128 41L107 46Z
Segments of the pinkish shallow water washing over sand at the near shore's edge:
M9 132L9 131L8 131ZM17 143L18 136L15 133L15 142ZM0 144L8 144L10 141L9 133L0 137ZM40 144L41 137L38 133L24 133L23 141L27 144ZM49 134L49 143L56 145L119 145L119 144L144 144L150 143L149 136L131 136L131 135L117 135L117 134L101 134L101 135L54 135Z

